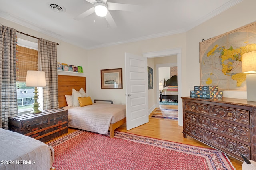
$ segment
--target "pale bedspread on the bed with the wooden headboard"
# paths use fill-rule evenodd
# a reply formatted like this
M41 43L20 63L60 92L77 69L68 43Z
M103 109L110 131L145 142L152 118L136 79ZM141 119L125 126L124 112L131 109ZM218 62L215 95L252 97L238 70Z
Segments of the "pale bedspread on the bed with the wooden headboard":
M126 117L126 105L93 103L83 107L64 107L68 109L68 126L100 134L107 134L110 123Z

